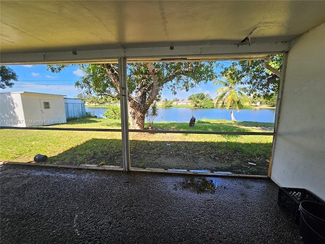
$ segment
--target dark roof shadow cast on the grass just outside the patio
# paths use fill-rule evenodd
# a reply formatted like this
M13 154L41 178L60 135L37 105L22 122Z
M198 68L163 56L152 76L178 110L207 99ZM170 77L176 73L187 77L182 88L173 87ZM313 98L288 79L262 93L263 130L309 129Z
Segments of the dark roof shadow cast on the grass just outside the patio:
M131 140L129 144L132 167L206 169L259 175L267 174L272 147L272 143L238 142ZM122 167L122 143L117 139L91 139L50 157L48 163Z

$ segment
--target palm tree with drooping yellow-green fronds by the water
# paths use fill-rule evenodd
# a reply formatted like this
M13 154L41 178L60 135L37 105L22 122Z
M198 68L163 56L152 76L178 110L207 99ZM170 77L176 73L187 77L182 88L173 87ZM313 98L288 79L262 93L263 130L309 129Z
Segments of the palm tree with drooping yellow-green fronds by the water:
M249 103L250 100L245 94L246 89L239 87L244 78L244 75L237 67L230 67L222 72L224 80L215 81L215 85L221 85L221 88L216 90L217 97L214 104L221 102L220 109L231 109L232 121L236 121L233 108L240 109L244 104Z

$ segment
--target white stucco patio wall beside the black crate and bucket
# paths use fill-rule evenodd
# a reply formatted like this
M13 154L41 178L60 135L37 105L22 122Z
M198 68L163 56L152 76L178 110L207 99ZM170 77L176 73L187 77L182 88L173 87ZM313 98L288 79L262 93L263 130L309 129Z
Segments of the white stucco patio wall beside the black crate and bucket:
M325 200L325 23L291 42L271 179Z

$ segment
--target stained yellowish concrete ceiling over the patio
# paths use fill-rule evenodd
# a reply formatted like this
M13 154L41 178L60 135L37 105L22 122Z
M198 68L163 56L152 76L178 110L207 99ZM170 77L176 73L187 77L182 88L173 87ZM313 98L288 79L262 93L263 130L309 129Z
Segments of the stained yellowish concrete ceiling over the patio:
M2 0L0 4L2 63L28 58L41 62L45 53L92 51L95 58L101 50L123 51L109 54L113 57L126 50L160 48L151 55L155 56L171 46L200 47L202 53L206 46L259 45L243 53L267 53L283 47L265 44L287 43L325 22L325 1ZM227 51L231 52L237 51ZM27 54L42 56L22 61Z

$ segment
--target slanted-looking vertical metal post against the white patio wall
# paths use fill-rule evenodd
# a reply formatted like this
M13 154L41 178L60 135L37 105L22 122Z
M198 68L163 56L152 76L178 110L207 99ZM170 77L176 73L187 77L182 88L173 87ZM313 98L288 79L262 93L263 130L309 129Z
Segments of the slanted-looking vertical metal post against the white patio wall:
M281 78L280 78L280 83L279 83L278 97L277 97L277 103L276 103L276 109L275 109L274 136L273 136L273 142L272 142L271 159L270 159L269 169L268 169L268 177L269 178L271 177L273 154L274 154L276 139L277 139L277 135L278 135L278 123L279 123L279 119L280 119L280 112L281 112L281 106L282 106L282 96L283 96L283 88L284 88L284 82L285 82L287 60L288 60L288 53L286 52L286 53L283 53L282 71L281 71Z

